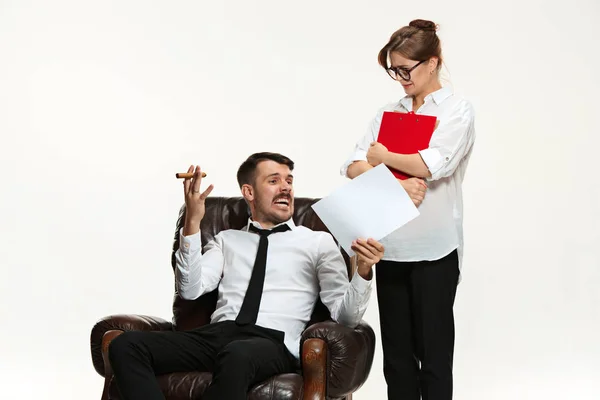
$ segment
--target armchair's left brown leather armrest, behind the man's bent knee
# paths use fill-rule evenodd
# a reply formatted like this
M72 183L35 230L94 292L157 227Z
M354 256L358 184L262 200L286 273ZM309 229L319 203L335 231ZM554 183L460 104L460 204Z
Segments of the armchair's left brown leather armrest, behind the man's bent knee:
M96 372L105 376L105 365L102 357L102 342L105 334L112 340L118 336L114 331L168 331L173 329L171 322L162 318L146 315L111 315L96 322L90 335L90 347L92 351L92 362ZM110 332L113 331L113 332ZM110 340L104 340L108 346Z

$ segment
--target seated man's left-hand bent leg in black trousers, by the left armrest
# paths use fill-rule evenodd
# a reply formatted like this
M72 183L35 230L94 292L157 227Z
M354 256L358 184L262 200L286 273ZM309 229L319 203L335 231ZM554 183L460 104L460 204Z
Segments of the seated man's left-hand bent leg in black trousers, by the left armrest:
M220 350L218 324L189 332L125 332L108 355L124 400L164 400L156 375L210 371ZM222 335L222 333L221 333Z

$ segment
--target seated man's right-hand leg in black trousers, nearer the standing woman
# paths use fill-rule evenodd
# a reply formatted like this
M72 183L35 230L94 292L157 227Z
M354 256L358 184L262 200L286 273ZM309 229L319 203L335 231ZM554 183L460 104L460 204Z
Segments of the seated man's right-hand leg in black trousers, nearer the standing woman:
M235 340L217 355L212 383L202 399L246 400L256 383L294 370L283 343L262 337Z

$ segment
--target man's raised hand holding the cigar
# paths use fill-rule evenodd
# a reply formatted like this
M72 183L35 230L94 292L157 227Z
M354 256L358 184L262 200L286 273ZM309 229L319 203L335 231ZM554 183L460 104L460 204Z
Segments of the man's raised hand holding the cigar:
M183 226L183 236L189 236L197 233L200 230L200 222L204 218L205 207L204 200L213 190L213 185L210 185L204 192L200 193L200 184L202 183L202 171L196 165L190 165L188 173L194 173L194 176L186 178L183 181L183 194L185 197L185 224Z

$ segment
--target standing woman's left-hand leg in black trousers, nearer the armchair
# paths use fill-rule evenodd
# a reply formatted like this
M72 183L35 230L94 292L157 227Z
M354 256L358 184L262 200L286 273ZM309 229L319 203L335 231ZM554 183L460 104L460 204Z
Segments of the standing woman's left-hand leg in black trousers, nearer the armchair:
M375 267L383 374L389 400L419 400L421 397L410 306L412 265L380 261Z

